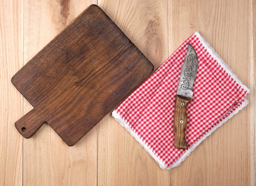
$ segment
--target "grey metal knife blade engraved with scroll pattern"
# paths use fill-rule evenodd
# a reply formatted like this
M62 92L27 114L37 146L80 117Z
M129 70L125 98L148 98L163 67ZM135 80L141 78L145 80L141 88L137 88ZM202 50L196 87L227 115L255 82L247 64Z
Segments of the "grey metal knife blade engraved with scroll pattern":
M188 50L186 53L186 58L182 66L180 81L178 85L177 94L185 97L192 98L193 83L195 80L195 75L198 70L198 56L195 49L190 43L188 43Z

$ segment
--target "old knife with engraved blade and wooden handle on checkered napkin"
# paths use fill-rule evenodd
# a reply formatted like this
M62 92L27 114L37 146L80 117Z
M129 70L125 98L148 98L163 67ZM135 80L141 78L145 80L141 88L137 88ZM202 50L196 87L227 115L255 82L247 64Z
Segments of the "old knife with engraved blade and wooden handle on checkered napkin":
M186 108L193 97L193 83L198 71L198 56L195 49L188 43L185 61L182 65L180 81L177 89L174 108L174 146L175 148L188 149L185 140L187 124Z

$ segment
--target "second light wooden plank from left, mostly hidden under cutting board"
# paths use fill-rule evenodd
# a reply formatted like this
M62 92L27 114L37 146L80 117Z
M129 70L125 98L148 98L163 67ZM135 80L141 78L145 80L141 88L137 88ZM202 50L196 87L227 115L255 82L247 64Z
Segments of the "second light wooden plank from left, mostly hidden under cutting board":
M24 63L29 61L62 29L96 0L24 2ZM32 109L25 101L24 114ZM75 146L67 146L44 124L23 143L23 184L97 185L97 128Z

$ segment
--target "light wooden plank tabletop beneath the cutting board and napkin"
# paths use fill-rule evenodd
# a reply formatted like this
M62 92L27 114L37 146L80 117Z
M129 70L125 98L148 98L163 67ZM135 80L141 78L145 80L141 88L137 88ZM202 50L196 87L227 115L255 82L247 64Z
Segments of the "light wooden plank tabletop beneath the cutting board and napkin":
M199 31L251 89L249 105L171 170L159 168L111 114L72 147L47 124L23 139L14 122L32 107L11 77L90 4L155 69ZM0 185L255 185L255 51L256 0L0 0Z

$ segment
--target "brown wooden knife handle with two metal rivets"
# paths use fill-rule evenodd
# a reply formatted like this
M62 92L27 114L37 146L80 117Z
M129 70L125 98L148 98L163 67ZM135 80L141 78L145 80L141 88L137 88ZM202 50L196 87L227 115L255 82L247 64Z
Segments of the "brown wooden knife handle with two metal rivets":
M185 140L187 123L186 107L191 98L176 95L174 108L174 146L175 148L188 149Z

